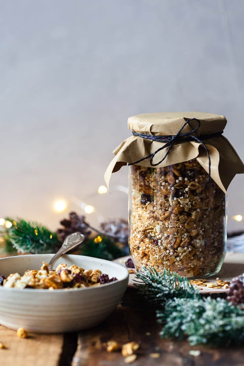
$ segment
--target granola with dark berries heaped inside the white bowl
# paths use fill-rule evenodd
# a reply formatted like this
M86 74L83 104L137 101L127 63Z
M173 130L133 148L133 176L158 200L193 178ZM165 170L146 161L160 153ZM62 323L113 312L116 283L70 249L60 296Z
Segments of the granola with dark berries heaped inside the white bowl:
M99 269L83 269L82 267L59 264L55 270L49 271L48 264L42 262L40 270L27 270L23 276L11 273L7 279L0 276L0 285L5 288L39 288L48 290L75 289L99 286L116 281L116 277L109 278Z

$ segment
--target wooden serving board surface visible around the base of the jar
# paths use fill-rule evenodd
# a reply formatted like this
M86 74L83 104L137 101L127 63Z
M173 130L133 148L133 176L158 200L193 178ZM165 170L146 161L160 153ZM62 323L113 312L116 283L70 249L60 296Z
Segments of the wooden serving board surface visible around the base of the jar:
M130 256L115 259L114 262L125 266L125 262L127 261L128 258L130 258ZM224 281L230 282L233 277L239 276L243 272L244 272L244 253L228 252L226 253L224 263L218 275L207 277L206 280L215 281L216 277L219 277ZM133 273L130 274L128 287L135 288L135 280L138 281L138 279L136 279L135 274ZM199 286L199 288L201 293L204 295L225 293L227 291L226 289L209 288L204 286Z

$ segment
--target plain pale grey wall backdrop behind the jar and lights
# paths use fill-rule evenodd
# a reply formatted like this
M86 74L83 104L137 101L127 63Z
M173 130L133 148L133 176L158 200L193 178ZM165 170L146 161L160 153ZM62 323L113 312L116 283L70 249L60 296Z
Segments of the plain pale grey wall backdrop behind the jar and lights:
M125 217L124 193L95 192L139 113L224 114L244 158L243 11L242 0L0 0L0 216L56 228L85 200L89 221ZM243 186L229 188L229 230L244 227L232 219Z

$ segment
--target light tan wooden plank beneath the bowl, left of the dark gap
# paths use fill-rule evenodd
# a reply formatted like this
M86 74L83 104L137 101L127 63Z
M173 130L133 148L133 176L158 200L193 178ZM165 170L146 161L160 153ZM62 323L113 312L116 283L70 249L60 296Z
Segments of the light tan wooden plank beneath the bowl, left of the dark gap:
M63 335L30 334L20 339L14 330L0 325L1 366L58 366L62 352Z

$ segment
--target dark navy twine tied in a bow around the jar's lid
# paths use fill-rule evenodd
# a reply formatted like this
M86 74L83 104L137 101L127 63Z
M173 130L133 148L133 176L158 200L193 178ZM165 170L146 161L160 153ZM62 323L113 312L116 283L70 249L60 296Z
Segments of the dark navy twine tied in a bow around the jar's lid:
M190 132L184 132L183 134L181 134L181 131L183 130L183 128L189 124L189 122L191 121L196 121L198 123L198 126L196 128L194 128L193 130L191 130ZM141 161L143 160L146 160L148 158L150 158L150 164L152 167L155 167L157 166L158 164L162 163L162 161L164 161L166 159L166 157L168 156L168 154L170 153L170 150L172 149L174 143L181 143L181 142L189 142L189 141L197 141L199 142L203 147L204 149L206 150L206 153L207 153L207 157L209 159L209 181L210 181L210 173L211 173L211 159L210 159L210 156L209 156L209 150L207 149L205 143L202 141L202 140L206 140L208 138L212 138L212 137L218 137L218 136L221 136L222 133L224 131L221 131L221 132L216 132L214 134L209 134L209 135L202 135L200 136L200 138L202 140L200 140L198 137L196 137L195 135L192 135L193 132L196 132L198 130L198 128L200 127L200 121L199 119L197 118L191 118L191 119L188 119L187 121L185 121L185 123L183 124L183 126L180 128L180 130L177 132L176 135L173 135L173 136L154 136L154 135L146 135L146 134L138 134L136 132L132 132L132 134L134 136L138 136L138 137L142 137L142 138L145 138L147 140L151 140L151 141L158 141L158 142L165 142L165 145L162 146L162 147L159 147L158 150L154 151L154 153L148 155L148 156L145 156L143 157L142 159L140 160L137 160L135 161L134 163L130 163L129 165L134 165L134 164L137 164L137 163L140 163ZM153 158L154 156L161 150L163 149L166 149L166 147L169 147L169 149L167 150L167 152L165 153L165 156L162 158L162 160L158 161L158 163L153 163Z

